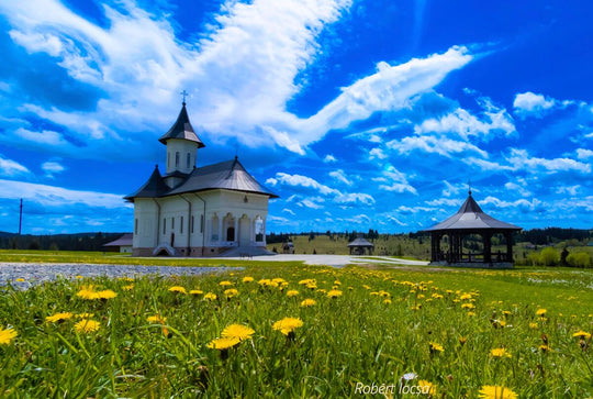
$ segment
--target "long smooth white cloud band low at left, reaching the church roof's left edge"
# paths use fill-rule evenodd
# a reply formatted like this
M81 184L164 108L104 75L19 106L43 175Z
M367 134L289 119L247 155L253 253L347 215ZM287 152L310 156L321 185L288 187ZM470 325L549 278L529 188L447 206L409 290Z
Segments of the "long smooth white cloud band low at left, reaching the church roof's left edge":
M83 204L87 207L122 209L130 208L122 195L70 190L61 187L0 179L0 198L20 199L44 207Z

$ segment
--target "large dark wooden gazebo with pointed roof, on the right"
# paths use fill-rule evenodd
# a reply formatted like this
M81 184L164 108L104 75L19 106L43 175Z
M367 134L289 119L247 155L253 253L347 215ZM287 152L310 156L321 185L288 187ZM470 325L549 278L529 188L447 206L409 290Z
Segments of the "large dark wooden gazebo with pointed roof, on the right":
M513 232L519 230L522 228L485 214L471 197L470 190L468 199L456 214L424 230L430 233L430 265L512 268L514 266ZM481 236L483 252L463 252L463 237L470 234ZM495 234L504 236L506 252L493 253L492 237ZM441 241L445 236L448 237L447 251L441 250Z

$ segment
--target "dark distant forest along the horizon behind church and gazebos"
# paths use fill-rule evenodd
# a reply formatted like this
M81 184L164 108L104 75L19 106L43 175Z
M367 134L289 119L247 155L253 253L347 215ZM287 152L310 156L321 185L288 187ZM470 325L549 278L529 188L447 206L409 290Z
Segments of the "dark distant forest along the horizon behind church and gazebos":
M1 250L48 250L48 251L109 251L103 245L118 240L123 233L78 233L78 234L55 234L55 235L31 235L19 236L14 233L0 232ZM266 240L268 244L284 243L291 236L309 236L309 240L315 240L316 236L327 235L331 237L347 237L353 241L358 235L368 240L390 236L407 236L418 240L421 243L428 237L426 233L406 233L406 234L380 234L377 230L368 232L346 231L346 232L309 232L309 233L270 233ZM529 242L534 245L548 245L560 241L577 240L585 243L592 240L591 230L579 229L533 229L514 234L514 241ZM115 250L115 248L113 248Z

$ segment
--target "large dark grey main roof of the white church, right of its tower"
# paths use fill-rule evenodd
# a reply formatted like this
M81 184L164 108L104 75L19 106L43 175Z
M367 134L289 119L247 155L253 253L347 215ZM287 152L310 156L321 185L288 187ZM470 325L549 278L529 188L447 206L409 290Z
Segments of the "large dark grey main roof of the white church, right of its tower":
M245 170L237 157L232 160L193 169L186 181L181 182L164 196L212 189L256 192L266 195L270 198L278 198L277 195L257 182L257 180Z

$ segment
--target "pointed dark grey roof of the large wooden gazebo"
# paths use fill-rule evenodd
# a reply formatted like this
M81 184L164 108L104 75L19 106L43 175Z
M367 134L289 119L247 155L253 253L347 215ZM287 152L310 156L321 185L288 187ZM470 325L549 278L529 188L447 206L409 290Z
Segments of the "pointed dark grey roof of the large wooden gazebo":
M468 199L456 214L424 231L439 230L522 230L522 228L501 222L485 214L473 197L471 197L470 191Z

